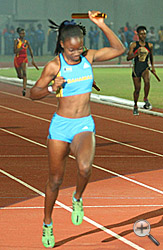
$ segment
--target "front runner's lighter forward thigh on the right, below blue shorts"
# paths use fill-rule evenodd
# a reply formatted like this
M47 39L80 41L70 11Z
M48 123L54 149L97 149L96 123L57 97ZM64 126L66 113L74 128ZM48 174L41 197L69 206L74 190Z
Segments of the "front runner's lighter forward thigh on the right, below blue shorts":
M74 136L71 151L76 157L78 167L91 167L95 155L94 132L82 132ZM80 164L82 163L82 164Z

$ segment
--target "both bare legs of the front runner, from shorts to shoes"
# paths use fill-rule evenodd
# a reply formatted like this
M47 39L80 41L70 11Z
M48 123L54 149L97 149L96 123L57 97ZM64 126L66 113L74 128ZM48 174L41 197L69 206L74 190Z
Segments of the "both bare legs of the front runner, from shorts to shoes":
M80 199L91 175L92 162L95 153L95 136L92 132L77 134L71 150L77 160L77 184L75 198ZM69 154L69 144L63 141L48 140L49 179L45 191L44 222L51 223L53 206L58 196L59 187L63 181L66 158Z

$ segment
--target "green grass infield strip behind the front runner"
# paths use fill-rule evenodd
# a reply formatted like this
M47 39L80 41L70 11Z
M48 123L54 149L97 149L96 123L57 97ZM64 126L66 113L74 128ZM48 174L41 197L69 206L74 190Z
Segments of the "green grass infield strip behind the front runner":
M133 100L133 82L131 77L131 68L94 68L94 78L97 85L101 88L100 92L93 89L93 93L116 96L128 100ZM42 69L27 70L28 79L36 81L41 75ZM157 74L163 79L163 70L156 69ZM0 69L0 75L6 77L17 77L14 68ZM143 88L140 92L139 101L143 101ZM163 108L163 82L158 82L156 78L151 75L151 89L149 93L149 100L155 108Z

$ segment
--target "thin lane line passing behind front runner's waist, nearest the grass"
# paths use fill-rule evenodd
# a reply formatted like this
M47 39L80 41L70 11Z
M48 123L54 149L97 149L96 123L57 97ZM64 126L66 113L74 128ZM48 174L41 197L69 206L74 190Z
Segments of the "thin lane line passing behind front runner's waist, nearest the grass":
M11 94L11 93L7 93L7 92L4 92L4 91L0 91L0 93L6 94L6 95L11 95L11 96L14 96L14 97L17 97L17 98L22 98L22 99L31 101L31 99L29 99L29 98L22 97L22 96L19 96L19 95L15 95L15 94ZM48 106L57 107L57 105L55 105L55 104L51 104L51 103L47 103L47 102L43 102L43 101L39 101L39 100L34 101L34 102L36 102L36 103L38 102L38 103L41 103L41 104L44 104L44 105L48 105ZM1 107L2 107L2 108L6 108L5 106L1 106ZM12 109L12 111L15 111L15 110ZM23 112L22 112L22 113L23 113ZM25 113L23 113L23 114L25 114ZM141 128L141 129L145 129L145 130L149 130L149 131L152 131L152 132L156 132L156 133L161 133L161 134L163 134L163 131L161 131L161 130L156 130L156 129L153 129L153 128L148 128L148 127L136 125L136 124L129 123L129 122L119 121L119 120L112 119L112 118L109 118L109 117L100 116L100 115L95 115L95 114L93 114L93 113L92 113L92 116L97 117L97 118L100 118L100 119L109 120L109 121L112 121L112 122L117 122L117 123L121 123L121 124L124 124L124 125L128 125L128 126L132 126L132 127L136 127L136 128ZM38 118L38 119L39 119L39 118ZM40 119L42 119L42 118L40 117Z

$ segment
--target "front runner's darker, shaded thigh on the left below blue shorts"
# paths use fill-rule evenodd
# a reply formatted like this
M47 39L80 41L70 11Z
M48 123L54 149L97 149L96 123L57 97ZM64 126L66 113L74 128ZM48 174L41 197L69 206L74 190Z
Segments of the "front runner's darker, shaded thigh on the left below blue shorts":
M69 143L48 139L49 174L62 177L64 174L66 158L69 154Z

